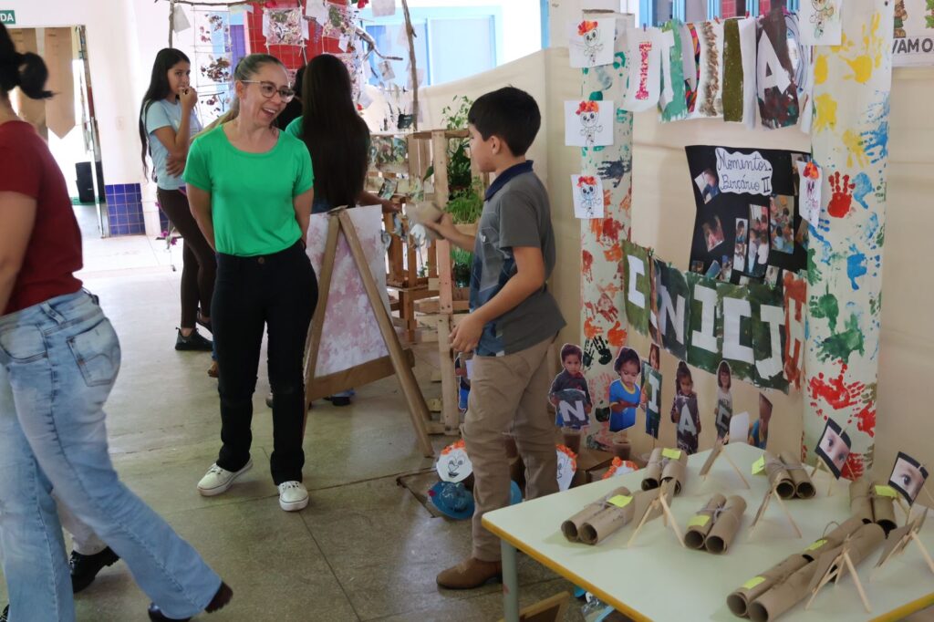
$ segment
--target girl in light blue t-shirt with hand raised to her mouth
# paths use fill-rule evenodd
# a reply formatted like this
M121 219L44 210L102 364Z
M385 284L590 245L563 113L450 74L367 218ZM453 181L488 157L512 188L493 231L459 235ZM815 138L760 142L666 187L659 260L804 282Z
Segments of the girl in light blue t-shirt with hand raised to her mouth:
M184 240L181 324L176 349L210 350L211 342L198 332L195 324L211 328L211 297L217 262L214 251L191 216L188 197L182 191L184 182L179 177L185 169L191 136L201 131L201 123L194 114L198 94L191 88L190 74L188 56L177 49L159 50L152 64L149 89L139 109L139 139L143 143L144 170L146 156L149 154L152 158L159 205Z

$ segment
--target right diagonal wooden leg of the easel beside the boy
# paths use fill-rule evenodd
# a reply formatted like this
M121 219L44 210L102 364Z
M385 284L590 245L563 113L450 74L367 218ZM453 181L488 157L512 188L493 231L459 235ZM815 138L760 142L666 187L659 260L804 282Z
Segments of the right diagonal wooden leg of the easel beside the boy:
M370 266L366 261L366 254L357 237L357 230L354 228L353 221L347 214L347 211L338 212L337 218L340 219L341 229L347 238L347 244L350 246L350 254L353 255L357 263L357 270L363 280L363 287L366 288L367 296L370 298L370 306L379 324L379 332L383 334L383 341L389 349L389 357L392 359L392 365L396 368L396 375L399 377L399 384L402 386L405 401L409 406L409 417L416 431L418 445L421 447L422 454L426 458L434 457L432 443L428 439L428 431L425 426L425 420L431 417L428 412L428 404L425 403L425 396L421 389L418 389L418 383L412 369L406 364L403 346L399 343L399 335L392 328L392 319L383 305L383 299L380 296L379 289L373 275L370 274Z

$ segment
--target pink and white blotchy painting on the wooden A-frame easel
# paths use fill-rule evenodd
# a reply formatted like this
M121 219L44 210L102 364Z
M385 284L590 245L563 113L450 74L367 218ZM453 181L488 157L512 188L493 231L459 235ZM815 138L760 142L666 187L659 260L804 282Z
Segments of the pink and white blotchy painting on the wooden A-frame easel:
M389 312L389 295L385 293L386 248L382 238L382 208L379 205L354 207L347 210L347 215L357 229L370 273ZM330 218L327 214L312 214L308 225L305 252L317 274L320 274L324 263ZM365 362L389 356L386 342L371 311L360 272L353 261L344 235L340 235L337 241L331 291L324 314L315 377L342 372Z

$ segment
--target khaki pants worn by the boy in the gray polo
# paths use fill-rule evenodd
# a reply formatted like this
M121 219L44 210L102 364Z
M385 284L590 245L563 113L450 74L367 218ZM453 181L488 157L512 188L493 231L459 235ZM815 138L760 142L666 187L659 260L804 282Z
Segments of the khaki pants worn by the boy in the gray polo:
M474 358L464 443L474 465L474 550L484 561L500 558L500 540L484 529L483 515L509 504L509 459L502 435L513 432L526 465L529 499L558 492L555 421L548 411L546 339L516 354Z

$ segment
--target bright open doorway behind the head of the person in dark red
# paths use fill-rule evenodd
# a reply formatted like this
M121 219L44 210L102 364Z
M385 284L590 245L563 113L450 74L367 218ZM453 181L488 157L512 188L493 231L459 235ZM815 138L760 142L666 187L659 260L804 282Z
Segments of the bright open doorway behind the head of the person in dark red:
M20 52L31 51L49 67L50 100L34 101L19 89L11 93L13 109L49 143L65 178L85 238L106 237L104 176L94 116L91 72L84 26L8 29Z

